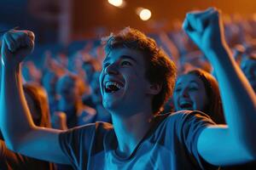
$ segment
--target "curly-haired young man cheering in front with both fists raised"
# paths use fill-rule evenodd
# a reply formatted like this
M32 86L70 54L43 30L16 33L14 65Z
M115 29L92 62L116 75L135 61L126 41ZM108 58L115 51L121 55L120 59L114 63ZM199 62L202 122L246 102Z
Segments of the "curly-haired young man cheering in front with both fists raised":
M228 126L214 125L198 111L157 116L172 95L175 67L154 40L126 28L108 38L100 77L113 125L36 127L20 88L20 62L32 52L34 36L9 31L3 37L0 114L9 149L76 169L211 169L255 160L256 97L232 59L218 10L187 14L183 27L216 70Z

